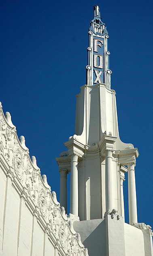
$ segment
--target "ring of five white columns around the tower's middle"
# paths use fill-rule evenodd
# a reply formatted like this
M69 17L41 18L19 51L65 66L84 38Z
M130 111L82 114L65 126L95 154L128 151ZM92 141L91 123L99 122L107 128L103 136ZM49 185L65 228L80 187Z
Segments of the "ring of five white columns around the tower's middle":
M106 149L105 151L105 173L106 173L106 210L112 210L113 206L113 168L112 156L113 150ZM70 213L78 216L78 156L71 156L71 176L70 176ZM127 162L128 171L128 202L129 202L129 223L137 223L137 206L136 206L136 183L135 183L135 162ZM67 173L68 171L60 170L60 204L67 210ZM121 192L121 209L122 216L124 215L123 202L123 177L120 179Z

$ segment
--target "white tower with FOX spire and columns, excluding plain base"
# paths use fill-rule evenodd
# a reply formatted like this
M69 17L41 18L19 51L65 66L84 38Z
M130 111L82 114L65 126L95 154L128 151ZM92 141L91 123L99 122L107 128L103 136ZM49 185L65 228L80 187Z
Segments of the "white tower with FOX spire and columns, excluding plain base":
M137 222L135 171L138 149L119 138L115 90L111 89L108 32L94 6L88 31L86 84L77 94L75 134L56 158L61 174L60 203L67 207L70 172L70 216L104 218L112 209L124 217L123 181L128 172L129 222Z

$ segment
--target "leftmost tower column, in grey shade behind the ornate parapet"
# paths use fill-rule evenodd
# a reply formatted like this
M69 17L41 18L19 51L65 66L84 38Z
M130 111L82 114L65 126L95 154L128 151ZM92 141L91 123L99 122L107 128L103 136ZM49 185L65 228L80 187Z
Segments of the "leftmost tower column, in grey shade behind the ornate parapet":
M67 170L59 170L60 172L60 206L64 206L67 213Z

